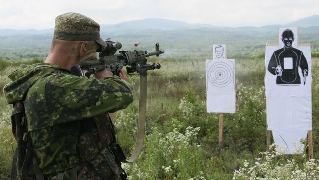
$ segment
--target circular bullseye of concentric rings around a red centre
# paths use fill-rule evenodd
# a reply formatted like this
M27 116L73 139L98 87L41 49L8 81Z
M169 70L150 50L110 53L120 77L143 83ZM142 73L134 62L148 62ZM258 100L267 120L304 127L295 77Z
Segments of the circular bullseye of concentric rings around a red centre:
M213 62L208 67L207 77L216 87L225 87L234 80L233 68L225 62Z

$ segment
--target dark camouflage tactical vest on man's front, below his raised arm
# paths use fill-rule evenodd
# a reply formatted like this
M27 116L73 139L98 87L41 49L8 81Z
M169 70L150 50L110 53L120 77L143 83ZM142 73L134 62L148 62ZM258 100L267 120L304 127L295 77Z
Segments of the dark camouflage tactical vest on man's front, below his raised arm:
M85 166L84 170L89 169L85 165L89 164L105 179L114 179L116 174L118 179L126 180L125 171L121 168L121 161L126 157L117 143L114 125L108 113L91 119L81 121L84 133L80 135L78 142L80 161Z

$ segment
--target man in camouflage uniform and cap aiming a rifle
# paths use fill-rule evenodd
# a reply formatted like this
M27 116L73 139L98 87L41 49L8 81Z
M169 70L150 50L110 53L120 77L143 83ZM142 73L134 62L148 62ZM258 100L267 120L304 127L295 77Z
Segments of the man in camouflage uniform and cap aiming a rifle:
M4 87L8 103L24 104L33 166L38 164L34 169L40 169L45 180L126 178L108 114L133 101L126 75L121 71L120 77L112 76L105 70L88 79L70 74L71 66L95 59L101 46L107 46L99 31L99 24L82 14L57 16L45 63L20 66ZM27 179L41 177L32 172Z

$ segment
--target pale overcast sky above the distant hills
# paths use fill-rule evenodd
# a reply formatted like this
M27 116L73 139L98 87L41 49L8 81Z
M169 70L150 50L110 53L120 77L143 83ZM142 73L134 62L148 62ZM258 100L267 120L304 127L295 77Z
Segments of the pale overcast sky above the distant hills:
M319 14L319 0L0 0L0 29L53 28L55 17L65 12L79 12L99 24L163 18L258 27Z

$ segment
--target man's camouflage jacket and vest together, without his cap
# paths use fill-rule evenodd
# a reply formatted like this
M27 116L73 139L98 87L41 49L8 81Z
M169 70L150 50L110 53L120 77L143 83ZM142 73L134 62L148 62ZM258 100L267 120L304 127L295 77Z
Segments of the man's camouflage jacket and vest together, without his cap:
M128 82L117 76L78 77L49 63L21 65L8 77L5 97L10 104L23 101L33 152L46 179L70 169L79 180L119 178L123 170L114 156L118 145L107 112L133 101Z

